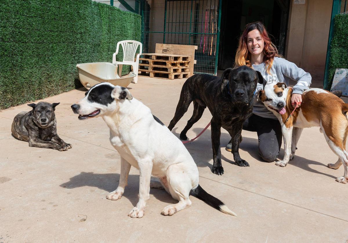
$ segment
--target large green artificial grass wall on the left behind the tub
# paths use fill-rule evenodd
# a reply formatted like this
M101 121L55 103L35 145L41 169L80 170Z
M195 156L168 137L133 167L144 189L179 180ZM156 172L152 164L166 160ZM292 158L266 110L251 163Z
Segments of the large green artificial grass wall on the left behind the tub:
M6 0L0 33L6 109L82 86L76 64L111 62L118 41L140 41L141 16L91 0Z

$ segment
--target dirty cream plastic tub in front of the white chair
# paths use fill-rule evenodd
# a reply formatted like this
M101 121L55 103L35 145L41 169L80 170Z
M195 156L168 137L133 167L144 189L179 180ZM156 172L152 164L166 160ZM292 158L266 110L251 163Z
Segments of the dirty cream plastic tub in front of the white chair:
M119 77L117 66L110 62L80 63L76 67L79 70L80 82L86 89L102 82L127 87L135 77L133 72L130 72L126 77Z

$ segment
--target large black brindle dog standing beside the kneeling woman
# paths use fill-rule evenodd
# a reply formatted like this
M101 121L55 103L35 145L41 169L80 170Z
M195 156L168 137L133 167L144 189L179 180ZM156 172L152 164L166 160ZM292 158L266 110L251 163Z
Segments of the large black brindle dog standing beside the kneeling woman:
M239 156L239 143L242 142L243 122L251 116L254 92L257 83L263 84L260 72L247 66L224 70L222 77L196 74L188 78L182 86L180 100L174 118L168 128L172 131L175 124L187 111L193 101L193 115L180 133L181 140L187 140L186 133L202 116L208 107L213 115L211 120L213 168L216 175L223 174L221 165L220 135L221 127L231 135L232 154L238 166L249 166Z

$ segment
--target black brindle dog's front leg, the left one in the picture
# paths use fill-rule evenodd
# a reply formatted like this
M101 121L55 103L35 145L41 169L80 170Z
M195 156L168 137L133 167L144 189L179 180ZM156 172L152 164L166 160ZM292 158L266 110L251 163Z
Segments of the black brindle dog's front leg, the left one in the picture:
M221 164L220 136L221 125L211 120L212 129L212 146L213 146L213 168L212 172L216 175L223 175L223 167Z

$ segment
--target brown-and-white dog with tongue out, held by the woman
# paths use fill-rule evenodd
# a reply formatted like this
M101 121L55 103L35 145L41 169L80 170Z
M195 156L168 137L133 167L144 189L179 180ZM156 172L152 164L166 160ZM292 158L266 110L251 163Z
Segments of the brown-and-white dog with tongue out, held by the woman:
M346 139L348 132L347 111L348 104L336 95L317 88L302 93L302 105L293 115L291 105L292 88L285 83L268 84L259 92L259 99L274 113L282 126L284 139L284 158L276 165L286 166L295 156L296 144L303 128L318 126L324 133L325 140L331 150L338 156L335 164L328 164L332 169L338 169L342 164L345 168L344 176L338 177L337 182L348 182L348 153ZM289 118L290 116L290 118Z

